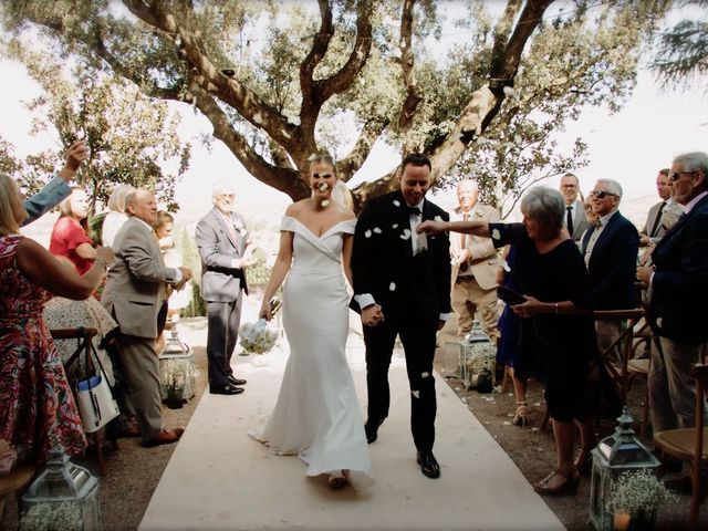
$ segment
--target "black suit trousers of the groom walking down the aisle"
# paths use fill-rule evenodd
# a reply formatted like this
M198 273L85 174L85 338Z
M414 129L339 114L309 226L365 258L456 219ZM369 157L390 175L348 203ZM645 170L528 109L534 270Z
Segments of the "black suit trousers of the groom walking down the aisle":
M388 416L388 367L398 335L406 355L410 385L410 431L418 451L431 450L435 441L437 402L433 360L436 331L413 317L406 323L384 321L376 326L364 326L368 421L382 421Z

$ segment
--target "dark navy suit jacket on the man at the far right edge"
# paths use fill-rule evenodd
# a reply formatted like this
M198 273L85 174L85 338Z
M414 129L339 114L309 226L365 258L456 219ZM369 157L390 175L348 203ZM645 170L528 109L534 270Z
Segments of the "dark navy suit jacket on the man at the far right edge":
M664 235L652 260L652 330L678 342L708 342L706 312L696 310L708 301L708 196Z

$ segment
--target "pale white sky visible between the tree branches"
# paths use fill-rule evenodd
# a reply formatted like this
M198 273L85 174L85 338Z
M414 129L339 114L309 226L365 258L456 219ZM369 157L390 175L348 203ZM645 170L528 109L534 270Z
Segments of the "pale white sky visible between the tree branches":
M0 76L6 80L0 84L0 135L14 144L19 156L56 146L56 139L49 134L29 135L31 117L21 102L39 94L39 88L23 66L0 61ZM219 178L233 179L238 189L237 209L246 215L284 210L290 198L251 177L220 142L215 140L210 150L195 142L199 133L210 133L211 125L189 107L180 107L184 116L180 135L191 138L194 148L190 169L177 186L176 199L183 207L178 219L207 211L211 205L211 184ZM701 84L666 91L658 86L653 73L641 70L634 94L621 112L611 115L605 108L587 110L561 136L569 145L575 136L587 143L590 165L576 171L581 189L587 192L595 179L610 177L623 185L625 201L656 197L654 183L659 168L669 166L679 153L708 150L707 108L708 95ZM391 148L377 143L350 185L381 176L398 162ZM556 187L558 181L546 184ZM447 208L456 202L452 190L431 197Z

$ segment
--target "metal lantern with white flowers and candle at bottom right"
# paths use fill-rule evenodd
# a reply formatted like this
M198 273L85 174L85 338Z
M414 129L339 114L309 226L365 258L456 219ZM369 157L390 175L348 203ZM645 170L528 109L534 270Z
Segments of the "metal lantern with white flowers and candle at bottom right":
M644 446L632 429L633 418L627 408L617 418L615 433L604 438L592 450L593 476L590 493L590 519L598 531L614 529L614 514L608 502L617 479L626 472L648 470L655 475L659 460Z

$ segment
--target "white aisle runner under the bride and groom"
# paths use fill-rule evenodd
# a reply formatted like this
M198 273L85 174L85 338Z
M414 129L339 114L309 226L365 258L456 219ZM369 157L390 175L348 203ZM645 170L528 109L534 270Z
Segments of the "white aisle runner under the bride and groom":
M206 332L202 333L206 340ZM362 407L361 339L347 357ZM192 341L192 344L199 344ZM204 343L201 343L204 344ZM441 477L416 465L403 354L389 375L391 416L369 446L375 485L332 491L296 457L271 456L247 431L273 407L287 354L235 356L246 393L205 393L155 490L142 530L554 530L561 522L507 454L436 374L435 455ZM364 409L362 409L364 410Z

